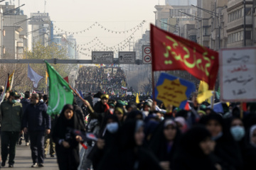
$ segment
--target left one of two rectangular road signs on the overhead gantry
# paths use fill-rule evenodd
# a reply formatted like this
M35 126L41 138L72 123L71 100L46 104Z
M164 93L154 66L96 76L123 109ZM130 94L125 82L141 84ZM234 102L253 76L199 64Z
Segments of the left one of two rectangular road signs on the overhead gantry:
M92 64L112 64L114 52L92 52Z

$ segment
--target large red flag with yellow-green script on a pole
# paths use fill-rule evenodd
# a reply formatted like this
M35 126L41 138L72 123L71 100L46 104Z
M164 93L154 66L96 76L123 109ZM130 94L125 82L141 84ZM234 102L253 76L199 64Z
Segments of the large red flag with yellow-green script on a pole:
M186 70L213 89L218 74L218 52L151 24L152 71Z

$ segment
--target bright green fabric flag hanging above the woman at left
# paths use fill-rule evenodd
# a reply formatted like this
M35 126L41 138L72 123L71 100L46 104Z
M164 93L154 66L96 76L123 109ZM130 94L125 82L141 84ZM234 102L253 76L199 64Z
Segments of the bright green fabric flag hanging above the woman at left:
M70 89L68 82L65 81L53 67L46 62L49 75L49 101L47 113L57 115L63 109L65 104L73 104L73 91Z

